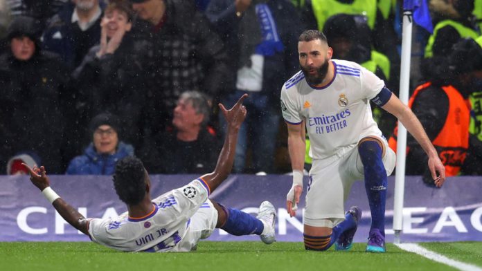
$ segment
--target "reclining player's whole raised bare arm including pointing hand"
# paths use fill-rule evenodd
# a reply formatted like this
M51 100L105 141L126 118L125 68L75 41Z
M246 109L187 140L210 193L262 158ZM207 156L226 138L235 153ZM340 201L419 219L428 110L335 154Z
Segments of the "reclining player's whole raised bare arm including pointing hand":
M229 110L224 105L219 104L220 110L226 119L227 131L220 156L217 158L216 168L210 174L202 176L202 179L207 183L211 191L214 191L231 173L236 142L238 141L238 131L247 114L246 108L242 105L246 97L248 97L247 94L242 95L240 100Z

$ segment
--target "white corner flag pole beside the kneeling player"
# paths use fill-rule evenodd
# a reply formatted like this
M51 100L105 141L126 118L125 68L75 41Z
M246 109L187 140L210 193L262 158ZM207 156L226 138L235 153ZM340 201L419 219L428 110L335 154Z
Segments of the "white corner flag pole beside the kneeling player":
M411 37L413 24L412 15L413 0L405 0L402 26L402 63L400 66L400 100L404 104L409 103ZM402 232L406 149L407 129L401 122L398 122L395 195L393 199L393 230L395 230L395 243L400 243L400 232Z

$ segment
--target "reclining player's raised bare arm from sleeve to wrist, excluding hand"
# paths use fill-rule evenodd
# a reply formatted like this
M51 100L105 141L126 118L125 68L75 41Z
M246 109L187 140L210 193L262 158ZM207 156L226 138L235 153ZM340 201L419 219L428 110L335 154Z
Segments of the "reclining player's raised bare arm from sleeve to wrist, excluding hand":
M220 156L217 158L215 170L211 174L202 176L203 180L208 183L211 191L216 189L231 173L236 151L236 142L238 142L238 130L239 129L233 127L228 129Z

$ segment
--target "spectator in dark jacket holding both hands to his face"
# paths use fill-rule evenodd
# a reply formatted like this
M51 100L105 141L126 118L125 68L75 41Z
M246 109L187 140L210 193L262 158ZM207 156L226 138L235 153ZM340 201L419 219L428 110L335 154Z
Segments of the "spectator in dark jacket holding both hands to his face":
M79 129L79 124L87 124L100 111L109 111L120 117L122 127L130 127L124 139L140 147L146 48L145 41L136 41L130 35L132 16L127 1L113 1L105 9L100 44L89 50L72 75L79 95L72 101L78 106L71 118L78 121L71 129Z

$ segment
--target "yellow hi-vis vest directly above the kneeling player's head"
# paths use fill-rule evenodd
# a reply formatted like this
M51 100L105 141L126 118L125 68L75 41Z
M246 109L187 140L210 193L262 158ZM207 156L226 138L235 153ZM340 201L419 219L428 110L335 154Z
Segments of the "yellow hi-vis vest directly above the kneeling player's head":
M377 19L377 0L355 0L353 3L340 3L337 0L312 0L314 17L318 29L323 30L328 18L337 14L364 15L368 26L373 30Z

